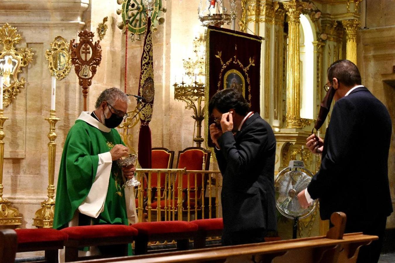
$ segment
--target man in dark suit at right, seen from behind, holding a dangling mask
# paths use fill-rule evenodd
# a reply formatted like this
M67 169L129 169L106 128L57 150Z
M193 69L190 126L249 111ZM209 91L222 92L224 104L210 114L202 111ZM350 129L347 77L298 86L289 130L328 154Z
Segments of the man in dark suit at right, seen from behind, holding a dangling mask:
M378 235L379 240L359 250L357 262L377 262L386 219L392 213L388 184L391 119L386 107L361 85L357 66L348 60L334 62L327 85L336 92L335 106L325 140L311 135L306 146L322 154L320 170L298 194L307 207L320 199L323 220L331 213L346 213L346 233Z

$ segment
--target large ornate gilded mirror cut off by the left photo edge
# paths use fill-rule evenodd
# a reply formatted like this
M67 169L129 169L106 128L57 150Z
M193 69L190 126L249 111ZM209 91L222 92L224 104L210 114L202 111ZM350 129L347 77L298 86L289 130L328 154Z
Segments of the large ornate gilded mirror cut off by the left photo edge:
M0 28L0 71L3 72L3 105L8 107L11 101L21 92L26 83L24 78L18 79L21 68L32 62L34 53L31 48L15 48L14 45L22 40L17 29L10 27L8 23Z

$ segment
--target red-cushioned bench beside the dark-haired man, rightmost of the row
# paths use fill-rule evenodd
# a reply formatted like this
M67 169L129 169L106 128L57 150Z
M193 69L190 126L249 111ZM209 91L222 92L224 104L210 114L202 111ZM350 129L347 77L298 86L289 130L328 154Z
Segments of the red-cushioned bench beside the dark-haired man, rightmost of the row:
M194 237L194 248L204 248L206 237L221 236L222 229L224 229L222 218L199 219L193 220L191 223L198 226L198 231Z

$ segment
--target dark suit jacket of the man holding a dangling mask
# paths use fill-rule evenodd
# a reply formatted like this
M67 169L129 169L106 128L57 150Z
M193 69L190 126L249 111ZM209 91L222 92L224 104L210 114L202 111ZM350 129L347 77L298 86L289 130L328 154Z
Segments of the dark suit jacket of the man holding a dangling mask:
M392 213L388 185L391 119L365 87L333 107L325 134L321 167L307 190L320 198L322 219L342 211L347 222L372 222Z

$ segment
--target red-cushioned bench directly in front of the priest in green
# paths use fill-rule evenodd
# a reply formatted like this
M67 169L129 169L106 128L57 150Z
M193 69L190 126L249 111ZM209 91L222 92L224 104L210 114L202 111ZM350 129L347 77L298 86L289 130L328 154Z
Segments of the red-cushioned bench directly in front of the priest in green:
M61 229L60 232L68 235L68 240L64 244L66 262L79 260L78 248L85 246L120 244L124 246L123 256L127 256L128 244L132 243L133 237L137 235L137 229L124 225L73 226Z

